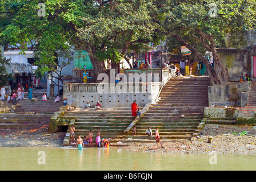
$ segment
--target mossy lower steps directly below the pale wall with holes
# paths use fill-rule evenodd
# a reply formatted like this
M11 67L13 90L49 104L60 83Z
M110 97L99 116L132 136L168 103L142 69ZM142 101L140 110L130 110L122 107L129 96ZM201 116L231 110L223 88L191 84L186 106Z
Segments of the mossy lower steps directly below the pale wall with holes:
M91 130L94 143L98 130L101 132L101 139L118 139L122 137L123 131L133 121L131 109L128 107L101 108L100 110L74 109L73 111L66 111L63 117L77 118L74 123L75 138L79 135L87 136ZM70 133L70 127L67 133Z

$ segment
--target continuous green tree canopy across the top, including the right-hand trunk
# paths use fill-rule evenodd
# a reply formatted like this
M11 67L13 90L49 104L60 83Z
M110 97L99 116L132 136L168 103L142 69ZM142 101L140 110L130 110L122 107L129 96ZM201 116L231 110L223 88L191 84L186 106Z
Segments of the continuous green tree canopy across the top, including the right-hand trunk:
M56 52L70 46L89 52L96 75L106 72L103 60L114 65L129 49L146 51L148 43L167 37L186 46L202 60L212 85L227 84L227 70L216 49L227 34L242 35L255 28L255 0L0 0L0 40L3 44L37 40L39 72L53 72ZM45 9L43 9L45 7ZM38 14L41 12L42 14ZM121 49L122 51L119 51ZM213 53L214 67L205 57ZM125 57L126 58L126 57Z

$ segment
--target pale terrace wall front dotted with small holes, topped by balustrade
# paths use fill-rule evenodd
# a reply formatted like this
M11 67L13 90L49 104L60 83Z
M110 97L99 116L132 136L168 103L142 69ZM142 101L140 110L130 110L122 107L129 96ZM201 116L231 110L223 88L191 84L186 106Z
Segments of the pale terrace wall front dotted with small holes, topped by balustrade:
M70 106L79 108L85 106L87 101L91 107L94 107L97 101L101 107L130 107L133 101L137 101L138 106L145 106L156 99L161 88L161 82L132 84L131 90L129 83L105 84L105 88L103 84L99 86L67 83L64 86L63 98L67 98ZM125 85L127 88L124 88Z

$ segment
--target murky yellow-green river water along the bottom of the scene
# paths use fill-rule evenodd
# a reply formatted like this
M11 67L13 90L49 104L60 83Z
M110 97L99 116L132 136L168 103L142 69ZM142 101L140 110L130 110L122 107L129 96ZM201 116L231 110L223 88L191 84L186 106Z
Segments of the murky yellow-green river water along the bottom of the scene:
M77 148L0 148L1 171L226 171L255 169L255 155L149 154L117 148L108 150L85 148L83 151L78 151Z

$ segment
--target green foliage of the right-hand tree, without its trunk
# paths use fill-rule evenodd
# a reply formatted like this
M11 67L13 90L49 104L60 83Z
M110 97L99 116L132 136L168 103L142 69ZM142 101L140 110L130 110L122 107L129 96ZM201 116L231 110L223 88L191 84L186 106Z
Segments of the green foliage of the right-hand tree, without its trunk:
M210 16L210 3L217 8L216 16ZM216 47L225 47L227 34L243 35L248 28L255 28L255 0L221 0L221 1L155 1L154 20L161 24L163 31L177 34L203 53L207 47L201 43L198 34L201 30L213 36ZM246 28L245 28L246 27ZM169 47L177 49L182 46L169 36ZM241 41L241 39L237 39ZM210 45L209 40L204 40ZM207 49L210 51L209 49ZM204 54L204 53L203 53Z

